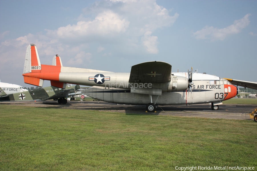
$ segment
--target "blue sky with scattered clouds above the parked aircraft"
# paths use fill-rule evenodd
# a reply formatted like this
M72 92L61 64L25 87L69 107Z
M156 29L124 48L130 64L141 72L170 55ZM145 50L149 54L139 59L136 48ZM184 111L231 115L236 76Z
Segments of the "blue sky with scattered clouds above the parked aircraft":
M163 61L172 72L257 82L257 1L0 1L0 80L23 80L25 53L41 64L130 72ZM50 81L44 82L50 86Z

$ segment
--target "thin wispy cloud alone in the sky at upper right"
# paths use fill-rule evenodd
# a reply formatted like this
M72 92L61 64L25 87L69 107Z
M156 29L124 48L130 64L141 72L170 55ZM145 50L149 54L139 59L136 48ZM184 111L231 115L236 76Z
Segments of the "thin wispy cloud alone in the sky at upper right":
M234 24L225 28L214 28L210 26L205 26L202 30L198 30L193 33L197 39L211 39L211 40L224 40L227 36L231 34L239 33L243 28L249 25L249 16L251 14L245 15L242 19L234 21Z

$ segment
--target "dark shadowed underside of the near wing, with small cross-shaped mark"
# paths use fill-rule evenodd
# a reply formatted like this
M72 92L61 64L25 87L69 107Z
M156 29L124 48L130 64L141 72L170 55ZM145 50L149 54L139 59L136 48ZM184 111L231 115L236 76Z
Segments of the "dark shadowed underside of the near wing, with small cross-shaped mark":
M166 62L152 61L131 67L128 82L166 83L171 80L171 65Z

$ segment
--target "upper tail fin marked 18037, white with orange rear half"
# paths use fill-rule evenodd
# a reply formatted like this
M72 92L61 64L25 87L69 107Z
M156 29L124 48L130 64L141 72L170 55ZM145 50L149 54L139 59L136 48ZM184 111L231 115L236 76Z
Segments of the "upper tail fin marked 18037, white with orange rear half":
M27 47L23 74L30 72L40 72L41 63L37 53L37 47L35 44L30 44Z

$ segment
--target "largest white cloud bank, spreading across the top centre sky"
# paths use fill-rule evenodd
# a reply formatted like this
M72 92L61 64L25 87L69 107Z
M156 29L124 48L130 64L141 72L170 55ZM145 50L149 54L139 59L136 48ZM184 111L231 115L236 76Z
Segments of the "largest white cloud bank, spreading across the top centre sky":
M98 1L83 11L77 24L47 30L47 35L76 43L120 43L122 40L124 46L139 45L146 32L170 27L179 16L177 13L169 15L170 11L157 5L155 0ZM88 14L95 14L96 17L89 19Z

